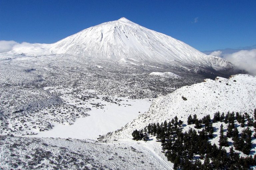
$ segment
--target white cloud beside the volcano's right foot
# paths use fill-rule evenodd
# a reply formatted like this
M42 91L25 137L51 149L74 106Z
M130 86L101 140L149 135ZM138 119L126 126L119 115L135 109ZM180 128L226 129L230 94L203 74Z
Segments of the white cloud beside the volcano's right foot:
M256 75L256 49L240 50L223 56L240 69L248 71L251 75Z

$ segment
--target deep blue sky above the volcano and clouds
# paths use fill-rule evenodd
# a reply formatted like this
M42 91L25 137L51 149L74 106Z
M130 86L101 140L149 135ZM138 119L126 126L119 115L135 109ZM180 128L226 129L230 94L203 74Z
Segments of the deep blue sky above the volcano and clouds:
M0 40L53 43L121 17L201 51L256 44L256 0L0 0Z

